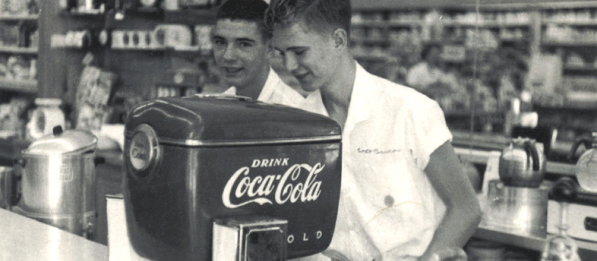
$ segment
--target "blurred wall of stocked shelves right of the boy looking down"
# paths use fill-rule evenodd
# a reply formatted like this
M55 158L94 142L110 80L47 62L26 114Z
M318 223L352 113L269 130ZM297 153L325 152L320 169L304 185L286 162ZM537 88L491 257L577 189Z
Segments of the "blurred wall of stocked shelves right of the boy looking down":
M482 1L479 14L475 1L376 1L370 5L353 1L353 8L353 53L371 72L405 83L408 69L421 60L422 46L435 42L448 49L445 61L457 71L462 85L469 85L473 77L479 79L476 91L482 91L481 97L472 101L478 104L458 107L449 99L438 100L449 119L466 116L476 106L478 117L489 117L478 122L500 125L512 95L500 97L503 83L496 76L509 73L516 92L530 89L534 107L541 112L547 107L555 115L540 117L541 124L558 127L575 122L569 126L597 128L595 115L587 115L597 108L597 2ZM562 62L558 72L562 80L553 89L528 85L525 77L531 57L553 54ZM472 64L477 65L474 73ZM508 70L512 67L515 74ZM467 86L469 95L472 89ZM584 116L553 113L562 108L581 110ZM482 131L481 125L476 129Z

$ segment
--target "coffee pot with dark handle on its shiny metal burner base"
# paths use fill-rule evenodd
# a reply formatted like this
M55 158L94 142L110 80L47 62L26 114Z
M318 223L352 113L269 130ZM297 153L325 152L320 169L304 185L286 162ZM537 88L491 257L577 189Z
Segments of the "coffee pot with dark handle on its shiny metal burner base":
M500 179L488 181L482 225L521 235L545 237L549 186L543 184L543 150L528 138L516 138L499 157Z

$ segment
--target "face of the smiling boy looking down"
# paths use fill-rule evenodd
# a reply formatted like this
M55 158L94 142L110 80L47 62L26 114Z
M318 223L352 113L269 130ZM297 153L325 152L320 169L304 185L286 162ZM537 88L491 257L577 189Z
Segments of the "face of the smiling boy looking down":
M332 33L309 29L303 21L273 30L272 46L305 91L328 85L336 68Z

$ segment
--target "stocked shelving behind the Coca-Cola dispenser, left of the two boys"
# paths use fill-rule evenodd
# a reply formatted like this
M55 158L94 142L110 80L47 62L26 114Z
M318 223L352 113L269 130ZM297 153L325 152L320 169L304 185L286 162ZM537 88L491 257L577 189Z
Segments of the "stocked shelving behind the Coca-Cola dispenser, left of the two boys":
M93 66L117 76L109 101L120 113L111 119L115 122L122 122L127 108L139 101L164 95L190 95L217 82L209 75L212 63L210 50L196 48L199 38L193 31L196 26L213 24L214 8L164 10L110 7L103 12L87 12L68 11L58 1L44 1L43 4L44 12L39 17L42 31L39 97L61 98L67 105L75 104L87 54L93 54ZM155 36L157 28L164 24L190 29L193 46L181 49L172 46L117 46L122 43L123 35L114 39L116 32L126 32L127 38L129 33L131 36L140 33ZM78 33L85 35L84 42L69 42L72 40L69 35ZM102 33L107 38L104 39L106 42L101 42ZM180 80L180 77L184 79Z

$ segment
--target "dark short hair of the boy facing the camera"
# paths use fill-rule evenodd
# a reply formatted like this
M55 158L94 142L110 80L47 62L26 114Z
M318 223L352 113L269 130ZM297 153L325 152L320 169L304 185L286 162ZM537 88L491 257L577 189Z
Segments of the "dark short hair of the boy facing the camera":
M271 38L269 31L265 30L263 17L267 10L267 3L263 0L226 0L220 5L216 21L230 19L250 21L257 24L266 39Z

